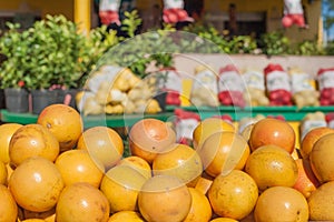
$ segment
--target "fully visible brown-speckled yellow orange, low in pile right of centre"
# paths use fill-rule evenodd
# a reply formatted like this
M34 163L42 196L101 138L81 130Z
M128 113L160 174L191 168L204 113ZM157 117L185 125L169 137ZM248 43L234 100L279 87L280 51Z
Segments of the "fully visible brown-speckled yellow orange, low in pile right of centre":
M248 215L258 198L258 189L247 173L233 170L215 178L208 199L214 212L224 218L240 220Z

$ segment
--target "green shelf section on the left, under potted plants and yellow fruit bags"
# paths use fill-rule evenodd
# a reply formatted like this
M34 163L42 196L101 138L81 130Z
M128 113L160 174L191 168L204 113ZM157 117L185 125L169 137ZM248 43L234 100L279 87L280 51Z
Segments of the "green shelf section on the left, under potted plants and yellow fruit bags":
M173 112L163 112L157 114L120 114L120 115L88 115L82 117L85 128L96 125L108 125L111 128L130 127L143 118L155 118L167 121L173 117ZM16 122L21 124L29 124L37 122L37 114L31 113L13 113L7 110L1 110L2 122Z

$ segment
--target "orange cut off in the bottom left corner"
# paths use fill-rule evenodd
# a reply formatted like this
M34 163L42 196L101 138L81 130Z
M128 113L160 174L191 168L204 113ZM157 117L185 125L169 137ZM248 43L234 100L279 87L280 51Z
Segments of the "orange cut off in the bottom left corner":
M7 186L0 184L0 221L16 222L18 205Z

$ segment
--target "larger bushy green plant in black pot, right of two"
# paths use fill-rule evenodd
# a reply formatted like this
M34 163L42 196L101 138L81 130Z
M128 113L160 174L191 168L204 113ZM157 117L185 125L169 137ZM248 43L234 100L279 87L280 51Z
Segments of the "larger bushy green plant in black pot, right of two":
M75 105L86 37L63 16L46 16L35 22L30 38L31 68L26 84L31 90L32 113L52 103Z

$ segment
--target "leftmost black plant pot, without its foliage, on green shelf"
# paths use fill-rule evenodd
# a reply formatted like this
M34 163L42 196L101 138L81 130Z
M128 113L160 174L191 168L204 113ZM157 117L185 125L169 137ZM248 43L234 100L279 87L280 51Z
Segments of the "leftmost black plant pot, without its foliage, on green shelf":
M29 112L29 92L26 89L4 89L4 104L9 112Z

